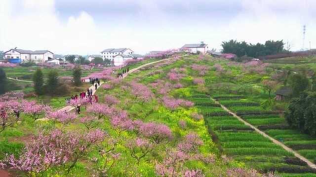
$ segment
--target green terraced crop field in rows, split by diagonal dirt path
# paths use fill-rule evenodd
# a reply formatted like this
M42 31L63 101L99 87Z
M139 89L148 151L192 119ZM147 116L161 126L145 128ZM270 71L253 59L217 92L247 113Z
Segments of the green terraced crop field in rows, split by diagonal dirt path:
M298 146L299 143L305 143L304 148L314 147L312 139L299 134L299 132L294 134L293 130L284 129L287 128L284 118L274 112L264 111L256 101L249 101L242 95L222 95L217 96L216 99L219 99L220 103L229 109L242 115L242 118L249 123L266 128L265 131L272 137L283 138L289 147L302 148ZM262 172L277 171L282 177L316 177L315 169L310 168L292 153L287 152L237 118L229 115L209 96L193 95L190 100L198 106L213 141L218 144L223 153ZM270 127L279 127L280 129L270 129ZM290 136L287 137L287 135ZM291 137L291 141L288 139L289 137ZM309 154L308 150L302 151L300 149L298 151L302 155L304 152ZM309 155L306 157L314 158L313 155Z

